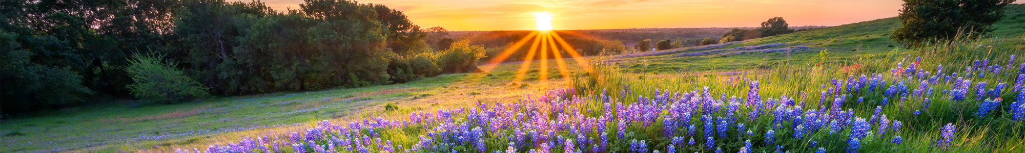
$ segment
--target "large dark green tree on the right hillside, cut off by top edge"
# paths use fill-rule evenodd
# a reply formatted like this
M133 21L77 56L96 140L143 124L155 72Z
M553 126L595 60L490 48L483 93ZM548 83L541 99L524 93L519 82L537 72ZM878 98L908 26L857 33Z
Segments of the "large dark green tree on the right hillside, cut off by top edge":
M949 40L960 34L989 33L989 26L1003 17L1003 6L1015 0L904 0L902 27L892 39L908 47L929 41Z

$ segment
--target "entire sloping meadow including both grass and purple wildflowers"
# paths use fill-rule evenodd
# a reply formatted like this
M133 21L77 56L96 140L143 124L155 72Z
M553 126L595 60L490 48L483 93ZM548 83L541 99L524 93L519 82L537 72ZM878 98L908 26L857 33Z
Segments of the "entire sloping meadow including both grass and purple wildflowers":
M934 50L888 39L891 17L593 56L597 72L570 67L568 79L538 80L535 64L511 82L520 63L508 62L398 85L65 109L4 120L0 152L1022 152L1025 6L1007 11L991 39Z

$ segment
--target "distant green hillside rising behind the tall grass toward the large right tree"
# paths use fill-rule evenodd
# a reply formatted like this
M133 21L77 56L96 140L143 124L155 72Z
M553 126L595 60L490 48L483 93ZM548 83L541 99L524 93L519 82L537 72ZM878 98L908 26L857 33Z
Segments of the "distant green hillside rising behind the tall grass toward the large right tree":
M999 47L1021 48L1020 44L1025 41L1022 39L1025 38L1022 26L1025 4L1008 5L1004 11L1004 19L994 23L995 31L989 35L998 41ZM766 69L780 64L851 63L866 56L912 54L890 39L891 32L898 27L900 18L889 17L730 44L619 55L605 61L628 71L675 73ZM691 55L682 55L688 53ZM819 61L822 56L829 60Z

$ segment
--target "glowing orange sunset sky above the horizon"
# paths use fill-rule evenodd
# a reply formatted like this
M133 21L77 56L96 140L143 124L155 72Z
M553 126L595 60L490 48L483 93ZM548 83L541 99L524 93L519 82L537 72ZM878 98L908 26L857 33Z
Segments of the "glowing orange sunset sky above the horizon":
M250 0L235 0L250 1ZM262 0L275 10L302 0ZM556 30L758 27L774 16L795 26L839 26L897 16L901 0L362 0L402 10L421 28L534 30L534 12ZM1017 2L1021 3L1021 2Z

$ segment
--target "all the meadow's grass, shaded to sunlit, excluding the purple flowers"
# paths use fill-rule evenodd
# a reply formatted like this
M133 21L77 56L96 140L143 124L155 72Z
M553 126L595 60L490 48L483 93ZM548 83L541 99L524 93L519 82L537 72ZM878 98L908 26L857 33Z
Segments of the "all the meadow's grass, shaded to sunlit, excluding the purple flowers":
M611 94L616 99L650 97L655 90L693 91L701 87L710 87L713 93L744 95L747 88L741 81L749 79L763 83L763 97L777 98L787 95L807 101L810 105L819 105L817 95L824 90L820 85L827 85L832 79L884 72L894 67L896 63L909 62L909 58L914 56L926 56L924 60L930 62L926 62L924 66L936 66L942 63L950 69L962 69L957 65L968 65L979 58L995 57L993 58L995 61L1006 60L1003 58L1011 54L1022 57L1021 44L1025 41L1023 39L1025 27L1021 27L1021 23L1025 22L1025 5L1011 5L1007 11L1009 12L1007 19L994 24L998 28L991 33L994 39L986 40L988 42L968 42L968 44L992 46L987 50L989 52L984 52L985 54L963 52L967 49L982 48L946 48L958 52L943 55L901 48L888 39L890 30L899 27L899 20L891 17L749 40L726 47L788 43L807 45L824 51L693 57L672 57L669 54L618 58L601 68L607 70L603 75L574 73L580 80L572 85L560 82L562 76L559 75L558 69L551 66L556 62L548 62L547 66L550 72L548 78L552 79L551 81L538 81L540 76L536 69L539 67L535 64L525 82L509 82L516 75L516 68L519 67L519 63L512 62L498 64L497 68L489 72L444 74L399 85L215 97L200 102L173 105L126 102L60 110L51 114L0 122L0 134L5 134L4 137L0 137L0 152L169 152L176 148L205 148L211 144L237 142L243 137L286 136L292 132L305 131L313 126L314 122L324 119L351 121L377 116L401 117L400 115L414 111L464 107L476 102L515 101L525 95L543 95L544 91L567 86L576 87L581 91L578 93L626 89L631 91L622 97ZM943 48L943 46L936 47ZM682 49L672 51L680 50ZM946 55L956 55L956 58L947 58ZM590 57L590 59L610 60L609 57ZM569 62L567 65L576 65L572 60L567 62ZM997 83L1013 79L993 76L984 80ZM884 97L877 93L860 93L858 96L865 97L869 102L878 102ZM1006 102L1014 99L1012 95L1002 96L1006 97ZM909 105L920 105L920 99L913 102L917 103ZM935 101L933 105L932 109L922 112L929 117L910 115L908 110L914 107L887 108L883 112L895 119L905 120L909 129L920 130L901 133L901 136L905 137L905 143L909 145L869 143L864 147L879 151L934 152L937 150L930 145L935 142L935 138L938 138L939 134L935 130L946 122L956 122L958 126L966 129L958 129L956 143L960 147L953 148L954 152L1022 150L1014 147L1025 142L1021 138L1023 133L1020 122L1015 123L1003 118L972 118L971 110L977 106L971 103ZM383 111L386 110L385 106L394 106L396 110ZM872 105L851 107L858 112L856 114L858 116L870 115L866 113L870 113L873 108ZM148 136L206 131L213 133L139 140ZM649 131L654 133L655 130ZM414 136L423 133L414 130L393 131L382 138L397 140L396 144L412 144L416 139ZM738 145L736 143L738 142L727 145L736 147ZM807 142L791 143L799 144L794 146L808 145ZM837 144L830 145L832 145L829 146L831 150L838 147Z

